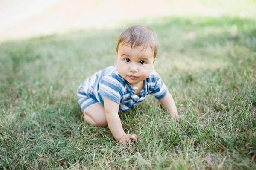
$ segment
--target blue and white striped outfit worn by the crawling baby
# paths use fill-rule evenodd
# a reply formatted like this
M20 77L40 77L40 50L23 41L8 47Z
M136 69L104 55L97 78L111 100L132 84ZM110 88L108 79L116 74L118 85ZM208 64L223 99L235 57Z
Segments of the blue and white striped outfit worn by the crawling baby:
M160 76L153 69L144 80L140 97L134 93L137 87L132 87L119 75L117 66L107 67L87 78L78 89L78 102L85 111L94 103L104 105L104 96L120 105L119 110L127 110L144 101L146 95L154 95L157 99L163 98L168 89Z

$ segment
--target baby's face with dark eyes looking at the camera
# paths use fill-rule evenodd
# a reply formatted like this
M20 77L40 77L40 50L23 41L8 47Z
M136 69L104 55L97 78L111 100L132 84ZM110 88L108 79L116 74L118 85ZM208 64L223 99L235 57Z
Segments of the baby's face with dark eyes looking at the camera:
M154 68L154 52L150 47L131 49L131 46L119 45L116 54L119 74L133 87L148 78Z

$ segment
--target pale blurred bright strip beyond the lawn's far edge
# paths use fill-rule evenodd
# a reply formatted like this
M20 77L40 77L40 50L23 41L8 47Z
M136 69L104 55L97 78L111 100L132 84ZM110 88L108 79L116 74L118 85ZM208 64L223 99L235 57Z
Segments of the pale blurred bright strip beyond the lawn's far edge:
M0 40L123 27L159 16L255 18L256 0L1 0Z

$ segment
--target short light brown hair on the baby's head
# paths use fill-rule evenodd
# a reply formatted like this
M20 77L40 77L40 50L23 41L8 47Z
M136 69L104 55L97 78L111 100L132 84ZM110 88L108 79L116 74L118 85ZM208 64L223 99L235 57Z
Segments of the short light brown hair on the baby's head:
M144 46L143 50L150 46L154 52L154 58L157 56L159 46L157 34L152 29L142 25L134 25L125 29L117 40L116 52L119 45L129 45L131 49Z

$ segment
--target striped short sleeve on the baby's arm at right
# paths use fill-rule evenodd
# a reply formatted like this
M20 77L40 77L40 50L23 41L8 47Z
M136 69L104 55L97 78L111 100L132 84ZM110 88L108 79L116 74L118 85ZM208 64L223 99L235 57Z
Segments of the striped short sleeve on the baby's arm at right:
M151 95L154 95L157 99L163 98L168 92L167 86L164 84L162 78L157 74L157 82L154 86Z

